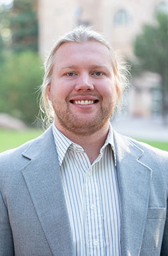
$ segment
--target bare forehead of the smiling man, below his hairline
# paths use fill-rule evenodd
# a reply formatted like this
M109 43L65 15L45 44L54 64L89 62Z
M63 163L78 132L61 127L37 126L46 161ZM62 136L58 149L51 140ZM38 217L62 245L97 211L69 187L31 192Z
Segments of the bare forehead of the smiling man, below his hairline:
M112 64L110 49L97 41L68 42L60 45L55 53L54 63L70 65L72 61L76 63L77 61L97 61L99 65L102 63Z

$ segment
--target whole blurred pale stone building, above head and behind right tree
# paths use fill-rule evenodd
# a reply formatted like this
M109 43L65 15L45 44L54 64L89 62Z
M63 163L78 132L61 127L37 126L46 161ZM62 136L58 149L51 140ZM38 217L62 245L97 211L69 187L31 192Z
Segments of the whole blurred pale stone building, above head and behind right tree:
M127 59L134 59L132 43L142 25L153 24L157 9L168 11L168 0L38 0L39 51L44 57L58 36L84 24L106 36L112 47ZM151 116L159 111L160 78L146 72L133 79L128 96L128 113Z

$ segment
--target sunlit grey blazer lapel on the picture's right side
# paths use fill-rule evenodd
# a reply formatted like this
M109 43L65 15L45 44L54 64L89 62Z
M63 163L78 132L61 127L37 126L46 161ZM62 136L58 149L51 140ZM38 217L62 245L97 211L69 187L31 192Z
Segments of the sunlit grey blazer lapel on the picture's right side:
M152 170L143 151L114 132L122 214L122 255L139 255L148 211Z

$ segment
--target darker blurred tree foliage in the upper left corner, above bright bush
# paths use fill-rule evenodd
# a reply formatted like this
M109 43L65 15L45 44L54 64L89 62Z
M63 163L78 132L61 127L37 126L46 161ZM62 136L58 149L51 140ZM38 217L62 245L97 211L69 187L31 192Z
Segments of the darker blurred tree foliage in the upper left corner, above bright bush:
M0 37L5 43L0 43L0 51L38 51L37 0L14 0L12 7L5 6L0 6Z

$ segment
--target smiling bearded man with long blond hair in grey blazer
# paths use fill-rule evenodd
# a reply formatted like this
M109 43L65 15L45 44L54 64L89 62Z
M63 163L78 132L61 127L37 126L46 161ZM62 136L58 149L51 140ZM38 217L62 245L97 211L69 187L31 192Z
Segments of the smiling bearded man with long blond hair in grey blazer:
M168 255L168 154L112 129L125 85L111 47L76 28L45 68L54 123L0 156L0 255Z

